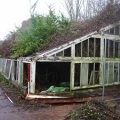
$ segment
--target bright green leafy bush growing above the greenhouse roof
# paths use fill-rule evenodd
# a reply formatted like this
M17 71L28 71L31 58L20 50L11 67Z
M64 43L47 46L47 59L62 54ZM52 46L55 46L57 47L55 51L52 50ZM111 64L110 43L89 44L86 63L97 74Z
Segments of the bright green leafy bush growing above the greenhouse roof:
M51 10L47 16L33 15L31 21L31 26L17 31L13 58L41 50L57 34L65 34L70 27L70 22L64 16L57 16Z

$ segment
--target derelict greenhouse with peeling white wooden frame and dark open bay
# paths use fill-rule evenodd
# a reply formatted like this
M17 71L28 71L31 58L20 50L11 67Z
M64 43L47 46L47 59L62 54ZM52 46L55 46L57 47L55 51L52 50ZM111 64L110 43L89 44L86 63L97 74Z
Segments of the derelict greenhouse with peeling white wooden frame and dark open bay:
M17 60L0 58L0 72L29 93L50 86L69 90L120 84L120 22Z

